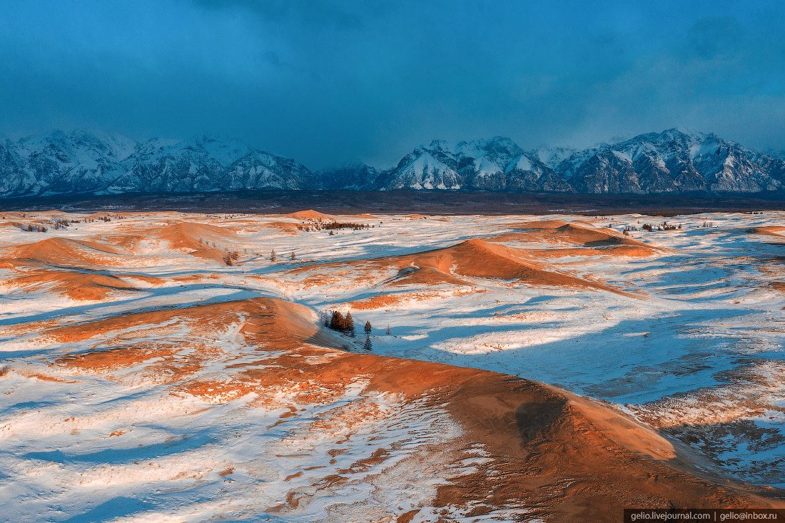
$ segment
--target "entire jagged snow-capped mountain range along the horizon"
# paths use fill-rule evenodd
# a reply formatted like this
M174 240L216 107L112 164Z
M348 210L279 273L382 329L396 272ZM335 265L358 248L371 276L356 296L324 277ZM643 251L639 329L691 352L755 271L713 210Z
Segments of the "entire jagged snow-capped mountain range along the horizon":
M387 170L363 163L312 172L231 138L137 142L54 131L0 139L0 196L237 189L753 193L785 190L785 155L713 133L670 129L583 150L524 150L509 138L433 141Z

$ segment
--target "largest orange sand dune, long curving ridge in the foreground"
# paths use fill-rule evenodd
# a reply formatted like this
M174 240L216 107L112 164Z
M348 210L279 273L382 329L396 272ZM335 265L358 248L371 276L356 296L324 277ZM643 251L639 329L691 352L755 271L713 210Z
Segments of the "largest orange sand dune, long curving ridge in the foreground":
M440 485L437 507L524 506L531 510L526 518L615 521L625 507L785 505L747 485L718 485L699 477L692 455L679 444L564 390L490 371L329 349L337 344L337 336L319 327L309 309L272 298L132 314L59 327L48 334L60 339L106 339L115 348L60 357L56 364L75 371L111 372L117 365L166 359L177 349L176 344L117 349L122 336L113 338L111 331L144 324L153 328L174 318L202 329L205 338L217 335L217 325L243 318L241 332L259 354L257 361L229 365L227 370L235 374L223 380L192 379L191 372L172 371L178 363L171 360L166 371L175 380L170 382L174 394L225 402L256 393L257 404L265 404L284 387L293 391L295 400L313 402L337 396L364 376L367 391L445 408L463 429L463 448L481 446L489 459L478 463L475 471ZM188 364L193 362L183 363ZM376 452L372 457L383 463L387 456ZM461 459L461 454L434 453L424 459L451 461ZM348 478L338 474L330 481L341 485Z

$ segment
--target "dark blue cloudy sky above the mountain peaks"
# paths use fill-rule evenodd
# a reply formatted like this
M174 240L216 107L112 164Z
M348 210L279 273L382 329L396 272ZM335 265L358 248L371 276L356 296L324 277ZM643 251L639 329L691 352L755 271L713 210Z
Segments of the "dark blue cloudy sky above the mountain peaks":
M673 126L785 148L785 2L5 0L0 133L214 133L312 168Z

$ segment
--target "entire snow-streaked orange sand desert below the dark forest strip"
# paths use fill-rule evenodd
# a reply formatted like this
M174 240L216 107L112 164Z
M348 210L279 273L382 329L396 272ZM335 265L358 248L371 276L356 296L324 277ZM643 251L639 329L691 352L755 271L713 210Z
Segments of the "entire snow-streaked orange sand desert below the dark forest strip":
M785 507L783 316L779 211L3 212L0 520Z

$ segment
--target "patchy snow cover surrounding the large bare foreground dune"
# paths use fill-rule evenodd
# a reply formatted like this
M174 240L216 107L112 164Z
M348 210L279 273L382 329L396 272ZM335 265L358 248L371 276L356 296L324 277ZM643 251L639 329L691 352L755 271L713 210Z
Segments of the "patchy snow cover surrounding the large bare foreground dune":
M18 226L51 218L79 223L48 232ZM481 462L482 449L476 449L474 462L411 466L418 452L435 452L434 446L458 437L459 428L440 409L422 415L396 397L361 393L362 376L327 399L298 403L298 416L279 422L294 405L287 390L264 407L254 404L252 393L173 393L183 381L173 385L152 370L168 361L166 353L122 367L62 363L142 342L151 350L170 343L204 353L206 346L211 356L199 360L195 375L231 381L231 365L257 358L235 324L206 331L167 320L138 332L120 329L119 338L42 335L123 314L255 297L304 305L314 322L333 309L351 312L358 335L341 336L351 351L363 351L361 326L370 321L374 354L498 371L605 400L692 445L715 474L785 487L785 213L361 215L335 219L367 228L331 235L315 229L333 217L318 214L84 218L14 214L0 221L5 259L55 237L114 246L82 270L129 285L100 299L75 299L53 281L21 280L20 272L69 271L83 261L57 265L34 250L30 267L0 265L5 521L29 514L41 521L203 521L218 513L236 521L371 521L374 511L385 521L385 510L428 507L444 477ZM624 254L614 243L543 235L531 225L548 221L610 229L613 237L650 251ZM680 229L641 229L663 221ZM199 229L190 247L178 247L166 231L182 222L227 234ZM624 229L633 230L624 235ZM476 239L603 287L467 276L457 269L451 271L455 281L403 277L408 272L400 260L407 256ZM236 251L238 259L225 265L213 251ZM334 430L311 430L319 419L334 420ZM379 440L397 442L400 452L383 468L374 466L369 446ZM344 452L327 453L339 441L349 441ZM360 462L366 466L353 466ZM350 470L352 481L317 493L314 485L339 470ZM309 503L295 503L285 514L259 511L294 487ZM433 521L436 514L422 510L411 521Z

